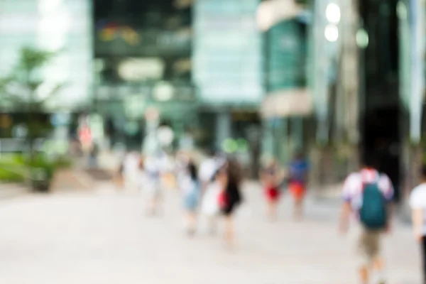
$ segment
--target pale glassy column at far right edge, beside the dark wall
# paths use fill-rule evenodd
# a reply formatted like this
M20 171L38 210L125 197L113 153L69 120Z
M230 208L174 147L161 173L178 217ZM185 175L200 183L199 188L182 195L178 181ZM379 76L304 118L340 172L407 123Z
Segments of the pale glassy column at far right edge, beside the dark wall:
M422 108L425 90L425 3L420 0L401 0L397 6L400 26L400 99L405 107L405 121L401 136L405 177L401 200L407 200L411 190L420 182L422 165ZM406 205L406 202L403 202ZM410 217L410 209L403 212Z

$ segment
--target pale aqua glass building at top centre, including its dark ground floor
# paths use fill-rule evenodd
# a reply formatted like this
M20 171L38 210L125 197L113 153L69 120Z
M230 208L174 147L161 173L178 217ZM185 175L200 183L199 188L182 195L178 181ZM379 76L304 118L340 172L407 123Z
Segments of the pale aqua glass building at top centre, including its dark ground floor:
M259 0L200 0L194 4L192 77L206 141L222 148L241 139L256 148L263 97ZM254 140L253 140L254 139ZM236 144L235 144L236 145ZM210 145L212 146L212 145ZM227 147L225 147L227 148ZM232 147L231 147L232 148Z

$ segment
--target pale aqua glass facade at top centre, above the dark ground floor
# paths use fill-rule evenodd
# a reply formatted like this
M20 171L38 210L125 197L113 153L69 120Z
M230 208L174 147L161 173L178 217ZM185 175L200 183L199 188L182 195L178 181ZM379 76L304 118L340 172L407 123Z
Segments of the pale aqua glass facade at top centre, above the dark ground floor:
M263 87L258 0L195 2L193 78L207 104L258 104Z

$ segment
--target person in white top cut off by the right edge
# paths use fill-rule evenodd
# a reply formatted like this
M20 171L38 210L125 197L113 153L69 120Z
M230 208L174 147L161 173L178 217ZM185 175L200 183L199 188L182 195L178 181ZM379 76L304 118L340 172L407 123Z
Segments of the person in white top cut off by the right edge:
M422 246L423 281L426 283L426 165L422 167L422 181L410 195L413 233Z

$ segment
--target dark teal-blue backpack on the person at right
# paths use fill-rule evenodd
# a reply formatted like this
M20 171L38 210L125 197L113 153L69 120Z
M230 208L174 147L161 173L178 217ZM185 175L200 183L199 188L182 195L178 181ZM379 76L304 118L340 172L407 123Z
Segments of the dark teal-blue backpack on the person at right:
M359 210L361 224L366 229L385 229L388 222L386 200L378 188L378 181L364 184L362 207Z

